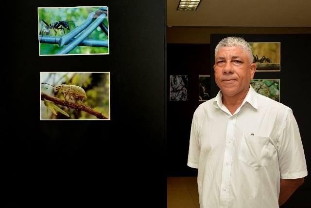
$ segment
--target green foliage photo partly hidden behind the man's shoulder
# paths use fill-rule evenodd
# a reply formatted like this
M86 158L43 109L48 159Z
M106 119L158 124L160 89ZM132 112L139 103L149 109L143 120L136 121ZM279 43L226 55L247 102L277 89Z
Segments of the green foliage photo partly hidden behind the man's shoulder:
M251 86L258 94L280 102L280 79L251 79Z

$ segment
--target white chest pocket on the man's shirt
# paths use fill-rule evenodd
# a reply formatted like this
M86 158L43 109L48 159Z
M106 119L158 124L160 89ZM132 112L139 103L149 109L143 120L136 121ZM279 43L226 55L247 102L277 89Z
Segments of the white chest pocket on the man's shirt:
M252 167L264 167L268 155L269 137L243 133L239 160Z

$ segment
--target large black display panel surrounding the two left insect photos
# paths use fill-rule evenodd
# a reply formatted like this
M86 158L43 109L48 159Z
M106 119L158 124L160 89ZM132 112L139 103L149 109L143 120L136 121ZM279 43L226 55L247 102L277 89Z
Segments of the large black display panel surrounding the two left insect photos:
M1 105L13 204L166 206L166 1L11 3ZM37 8L70 6L108 6L109 55L39 57ZM39 72L65 67L110 72L110 121L40 121Z

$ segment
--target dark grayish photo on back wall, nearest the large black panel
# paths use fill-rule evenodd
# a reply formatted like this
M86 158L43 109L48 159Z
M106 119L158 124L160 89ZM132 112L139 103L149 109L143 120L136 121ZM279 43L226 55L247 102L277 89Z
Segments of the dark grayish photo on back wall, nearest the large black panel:
M188 100L188 75L170 75L170 101Z

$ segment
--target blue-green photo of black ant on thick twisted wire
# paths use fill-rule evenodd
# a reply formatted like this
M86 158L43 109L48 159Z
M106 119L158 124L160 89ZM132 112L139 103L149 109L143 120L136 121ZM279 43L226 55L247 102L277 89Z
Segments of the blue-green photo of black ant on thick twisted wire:
M38 7L39 56L109 54L108 7Z

